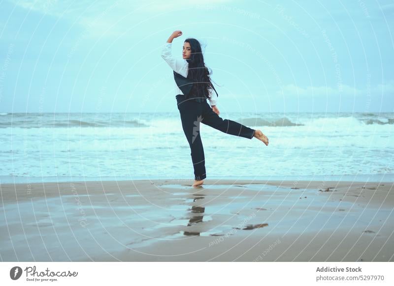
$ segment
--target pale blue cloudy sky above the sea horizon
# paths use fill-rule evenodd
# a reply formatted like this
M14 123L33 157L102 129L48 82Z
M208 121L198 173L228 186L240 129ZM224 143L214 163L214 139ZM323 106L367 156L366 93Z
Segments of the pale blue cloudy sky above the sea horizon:
M228 112L394 112L393 0L2 0L1 113L178 112L196 38Z

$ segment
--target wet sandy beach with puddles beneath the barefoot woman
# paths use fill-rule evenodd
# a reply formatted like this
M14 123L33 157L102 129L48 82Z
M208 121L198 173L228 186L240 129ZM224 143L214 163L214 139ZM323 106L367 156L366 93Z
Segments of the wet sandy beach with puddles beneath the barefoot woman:
M393 182L1 184L2 261L394 261Z

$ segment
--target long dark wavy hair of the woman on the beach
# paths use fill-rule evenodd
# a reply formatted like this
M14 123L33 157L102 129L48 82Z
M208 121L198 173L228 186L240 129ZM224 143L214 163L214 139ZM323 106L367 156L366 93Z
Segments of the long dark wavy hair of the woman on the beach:
M185 43L189 43L192 53L187 60L189 63L188 79L195 81L191 92L197 97L211 98L209 95L212 92L212 82L209 75L212 74L212 70L208 70L204 63L204 57L201 52L200 43L194 38L187 38Z

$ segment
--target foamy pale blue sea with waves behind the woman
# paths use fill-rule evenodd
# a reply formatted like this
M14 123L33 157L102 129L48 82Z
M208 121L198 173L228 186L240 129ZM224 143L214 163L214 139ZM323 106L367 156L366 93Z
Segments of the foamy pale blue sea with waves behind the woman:
M394 113L221 113L200 124L207 179L394 181ZM0 113L0 183L193 180L179 113Z

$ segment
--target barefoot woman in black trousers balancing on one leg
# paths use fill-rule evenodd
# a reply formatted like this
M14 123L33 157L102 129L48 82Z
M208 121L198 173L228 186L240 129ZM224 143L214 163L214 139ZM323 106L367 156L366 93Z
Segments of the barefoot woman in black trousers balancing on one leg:
M172 40L182 35L182 31L174 31L164 44L162 57L172 68L176 84L176 100L181 115L182 128L189 142L195 182L199 186L206 178L204 149L199 134L200 122L218 129L224 133L248 139L256 137L265 145L268 138L261 130L254 130L238 122L222 119L216 106L217 93L205 67L200 43L193 38L187 38L183 45L183 59L172 57ZM212 88L216 95L213 95ZM207 99L211 107L207 103Z

